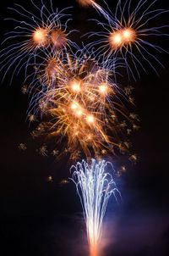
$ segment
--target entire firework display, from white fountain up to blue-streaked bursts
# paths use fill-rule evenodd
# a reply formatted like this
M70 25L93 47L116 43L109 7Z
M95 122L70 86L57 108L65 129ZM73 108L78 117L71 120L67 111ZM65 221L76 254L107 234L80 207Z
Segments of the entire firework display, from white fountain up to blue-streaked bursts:
M168 36L167 25L151 25L166 10L154 8L156 1L148 2L119 0L113 11L105 1L102 8L94 0L77 0L81 8L95 8L102 15L93 19L99 31L81 35L88 41L81 45L72 39L77 31L68 28L70 8L55 9L52 0L41 0L41 6L30 0L32 12L19 4L9 8L14 18L8 20L15 26L3 40L0 70L3 79L12 70L10 82L25 72L22 92L30 99L28 119L38 123L31 136L52 141L57 159L66 153L71 160L85 159L71 171L85 215L90 256L99 254L109 198L120 196L113 166L103 159L128 153L130 161L137 161L128 140L139 129L137 114L128 110L128 103L134 105L134 88L120 85L118 77L126 70L129 80L136 81L139 70L146 71L144 63L158 73L156 64L162 64L155 53L167 53L154 40ZM20 143L19 149L27 146ZM46 156L46 143L37 152ZM117 175L125 170L122 166Z

